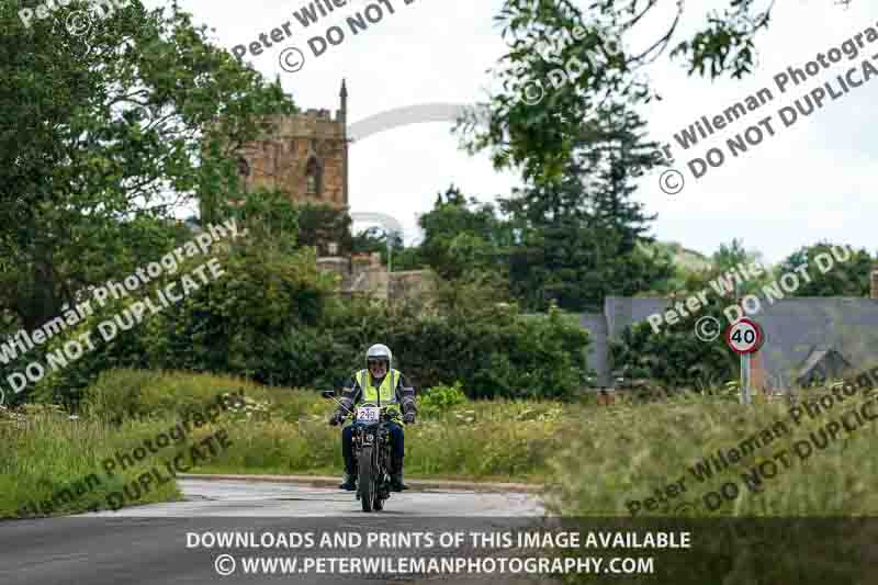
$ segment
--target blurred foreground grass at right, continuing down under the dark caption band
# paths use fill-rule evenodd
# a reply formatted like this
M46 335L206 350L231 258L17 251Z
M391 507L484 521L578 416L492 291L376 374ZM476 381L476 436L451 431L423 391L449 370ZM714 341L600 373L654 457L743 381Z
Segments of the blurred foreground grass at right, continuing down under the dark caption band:
M804 393L803 393L804 394ZM803 395L803 398L812 396ZM783 402L750 406L714 396L678 396L653 404L617 404L596 409L587 428L572 437L552 462L549 508L564 516L567 529L589 531L688 531L688 550L578 550L609 562L610 556L654 559L654 574L566 575L567 583L674 583L677 585L799 585L875 583L874 518L878 513L878 462L871 453L878 425L841 430L804 460L792 446L836 419L856 396L832 410L790 420ZM878 407L869 416L878 414ZM741 442L777 421L790 432L730 462L699 481L690 468L716 453L741 449ZM849 423L855 421L849 419ZM878 423L876 420L875 423ZM858 423L857 423L858 424ZM812 445L813 447L813 445ZM789 466L776 455L789 452ZM804 452L804 451L803 451ZM772 462L774 463L773 466ZM751 470L762 468L759 484ZM742 474L751 477L747 480ZM685 492L666 487L683 479ZM733 485L734 487L729 487ZM722 493L728 498L708 496ZM660 502L655 491L664 492ZM652 509L645 509L648 498ZM631 502L641 508L632 516ZM854 518L856 517L856 519Z

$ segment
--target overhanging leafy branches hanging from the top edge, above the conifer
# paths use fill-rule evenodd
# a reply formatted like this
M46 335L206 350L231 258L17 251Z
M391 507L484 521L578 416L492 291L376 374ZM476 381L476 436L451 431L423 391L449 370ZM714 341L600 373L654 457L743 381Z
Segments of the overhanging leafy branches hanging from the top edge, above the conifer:
M657 3L600 0L586 8L572 0L505 0L495 18L509 47L493 70L499 89L485 104L487 123L474 114L461 120L458 131L466 146L471 151L489 149L497 168L520 167L527 180L558 178L579 125L592 120L600 105L661 99L641 74L668 47L673 47L671 58L680 59L689 75L713 79L752 72L754 38L768 26L774 2L762 8L764 3L754 0L729 0L728 9L712 11L691 36L680 40L684 15L702 8L680 1L664 33L638 43L645 47L642 52L629 50L626 40L640 34L639 24L652 26L644 23L654 22L648 16ZM545 46L551 50L541 50ZM551 58L543 57L547 53ZM567 82L548 87L550 71L562 67L572 74ZM534 83L547 86L547 95L529 103L522 100L522 90Z

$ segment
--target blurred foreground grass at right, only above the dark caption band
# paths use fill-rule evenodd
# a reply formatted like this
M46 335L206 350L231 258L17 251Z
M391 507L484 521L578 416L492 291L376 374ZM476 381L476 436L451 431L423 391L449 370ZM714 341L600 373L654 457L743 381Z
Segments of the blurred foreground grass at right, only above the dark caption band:
M820 394L820 392L817 392ZM808 394L803 398L810 397ZM553 462L556 509L569 515L630 516L628 503L654 496L655 490L683 479L685 492L654 509L638 515L686 514L712 516L851 516L878 514L878 461L871 453L878 440L878 425L864 420L855 430L836 434L825 449L812 445L804 460L795 453L797 441L808 440L851 404L862 404L860 395L836 403L832 410L815 418L803 417L799 425L790 419L785 402L741 405L735 402L686 395L645 405L621 404L595 410L588 428L572 437L571 443ZM878 413L878 407L873 408ZM690 468L722 449L739 448L742 441L784 421L788 434L750 457L705 481ZM851 418L853 425L854 419ZM789 453L787 466L778 453ZM766 463L774 461L777 472ZM753 490L742 474L752 474L764 464L767 472ZM768 476L770 475L770 476ZM738 496L721 505L706 494L734 483ZM734 490L727 487L728 494ZM688 503L690 505L684 505Z

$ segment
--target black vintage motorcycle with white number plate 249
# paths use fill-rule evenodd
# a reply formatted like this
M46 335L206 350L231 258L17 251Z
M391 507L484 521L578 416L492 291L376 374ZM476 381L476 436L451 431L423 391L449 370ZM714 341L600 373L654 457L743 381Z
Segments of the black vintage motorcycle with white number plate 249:
M327 390L323 396L335 400L335 392ZM357 499L363 511L384 509L384 500L391 497L391 435L386 424L396 421L398 416L395 408L373 403L348 410L346 420L353 418Z

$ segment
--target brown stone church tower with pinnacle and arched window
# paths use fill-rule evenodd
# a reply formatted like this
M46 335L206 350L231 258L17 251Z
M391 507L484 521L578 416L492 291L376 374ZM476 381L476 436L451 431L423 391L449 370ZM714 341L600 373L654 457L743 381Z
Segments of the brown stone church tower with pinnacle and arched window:
M348 207L348 90L340 108L273 116L273 130L239 151L238 171L249 192L259 187L285 192L296 203Z

